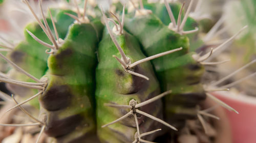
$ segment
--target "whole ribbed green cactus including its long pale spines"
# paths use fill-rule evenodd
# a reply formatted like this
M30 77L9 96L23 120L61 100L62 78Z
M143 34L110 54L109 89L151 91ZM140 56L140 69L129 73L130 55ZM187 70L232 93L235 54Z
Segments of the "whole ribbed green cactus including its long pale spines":
M13 97L16 105L7 111L19 107L26 112L22 105L28 101L37 108L39 116L26 112L33 124L17 125L40 126L36 142L42 132L56 143L152 142L159 137L168 142L165 135L179 135L188 120L199 120L206 131L202 115L218 119L200 111L206 97L236 111L210 94L227 89L206 87L201 79L206 65L222 63L205 60L241 31L204 55L196 53L205 43L199 37L202 26L188 16L193 0L186 13L178 2L143 1L143 6L140 1L131 13L118 3L121 20L102 9L102 16L86 14L87 0L81 3L83 11L74 0L74 11L51 8L45 15L39 0L40 20L23 2L37 22L25 27L25 40L8 58L0 54L14 67L0 80L24 100Z

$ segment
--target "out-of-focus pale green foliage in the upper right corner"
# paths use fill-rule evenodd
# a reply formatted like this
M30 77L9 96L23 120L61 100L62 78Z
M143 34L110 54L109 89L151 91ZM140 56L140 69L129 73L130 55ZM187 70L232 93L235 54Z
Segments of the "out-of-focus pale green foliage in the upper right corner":
M250 61L256 53L256 1L230 1L224 11L225 26L232 35L248 25L247 30L236 40L236 47L244 53L244 61Z

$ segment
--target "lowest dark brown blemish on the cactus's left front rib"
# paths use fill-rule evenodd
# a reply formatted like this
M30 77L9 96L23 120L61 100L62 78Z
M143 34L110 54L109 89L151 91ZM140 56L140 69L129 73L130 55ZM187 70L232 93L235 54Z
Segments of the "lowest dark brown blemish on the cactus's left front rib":
M64 119L59 119L57 115L59 114L56 112L50 112L47 121L45 133L52 137L58 137L72 132L82 121L80 115L73 115Z

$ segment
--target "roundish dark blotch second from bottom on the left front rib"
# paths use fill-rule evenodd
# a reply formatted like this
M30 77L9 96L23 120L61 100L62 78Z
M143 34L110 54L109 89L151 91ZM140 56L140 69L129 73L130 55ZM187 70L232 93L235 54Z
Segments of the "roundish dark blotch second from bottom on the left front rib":
M67 107L71 97L68 85L56 85L46 89L40 96L40 102L47 110L55 111Z

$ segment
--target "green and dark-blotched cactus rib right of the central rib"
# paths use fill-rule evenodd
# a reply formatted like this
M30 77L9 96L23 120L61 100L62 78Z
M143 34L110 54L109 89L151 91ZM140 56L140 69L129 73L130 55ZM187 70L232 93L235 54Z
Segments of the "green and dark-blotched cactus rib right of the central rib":
M204 68L194 60L194 53L188 52L188 38L169 30L153 14L126 19L124 27L139 39L147 56L183 47L181 51L152 60L161 90L174 90L164 98L166 119L172 125L182 127L185 119L196 117L196 105L205 99L200 83ZM178 105L176 98L180 101ZM181 121L183 124L179 124Z

